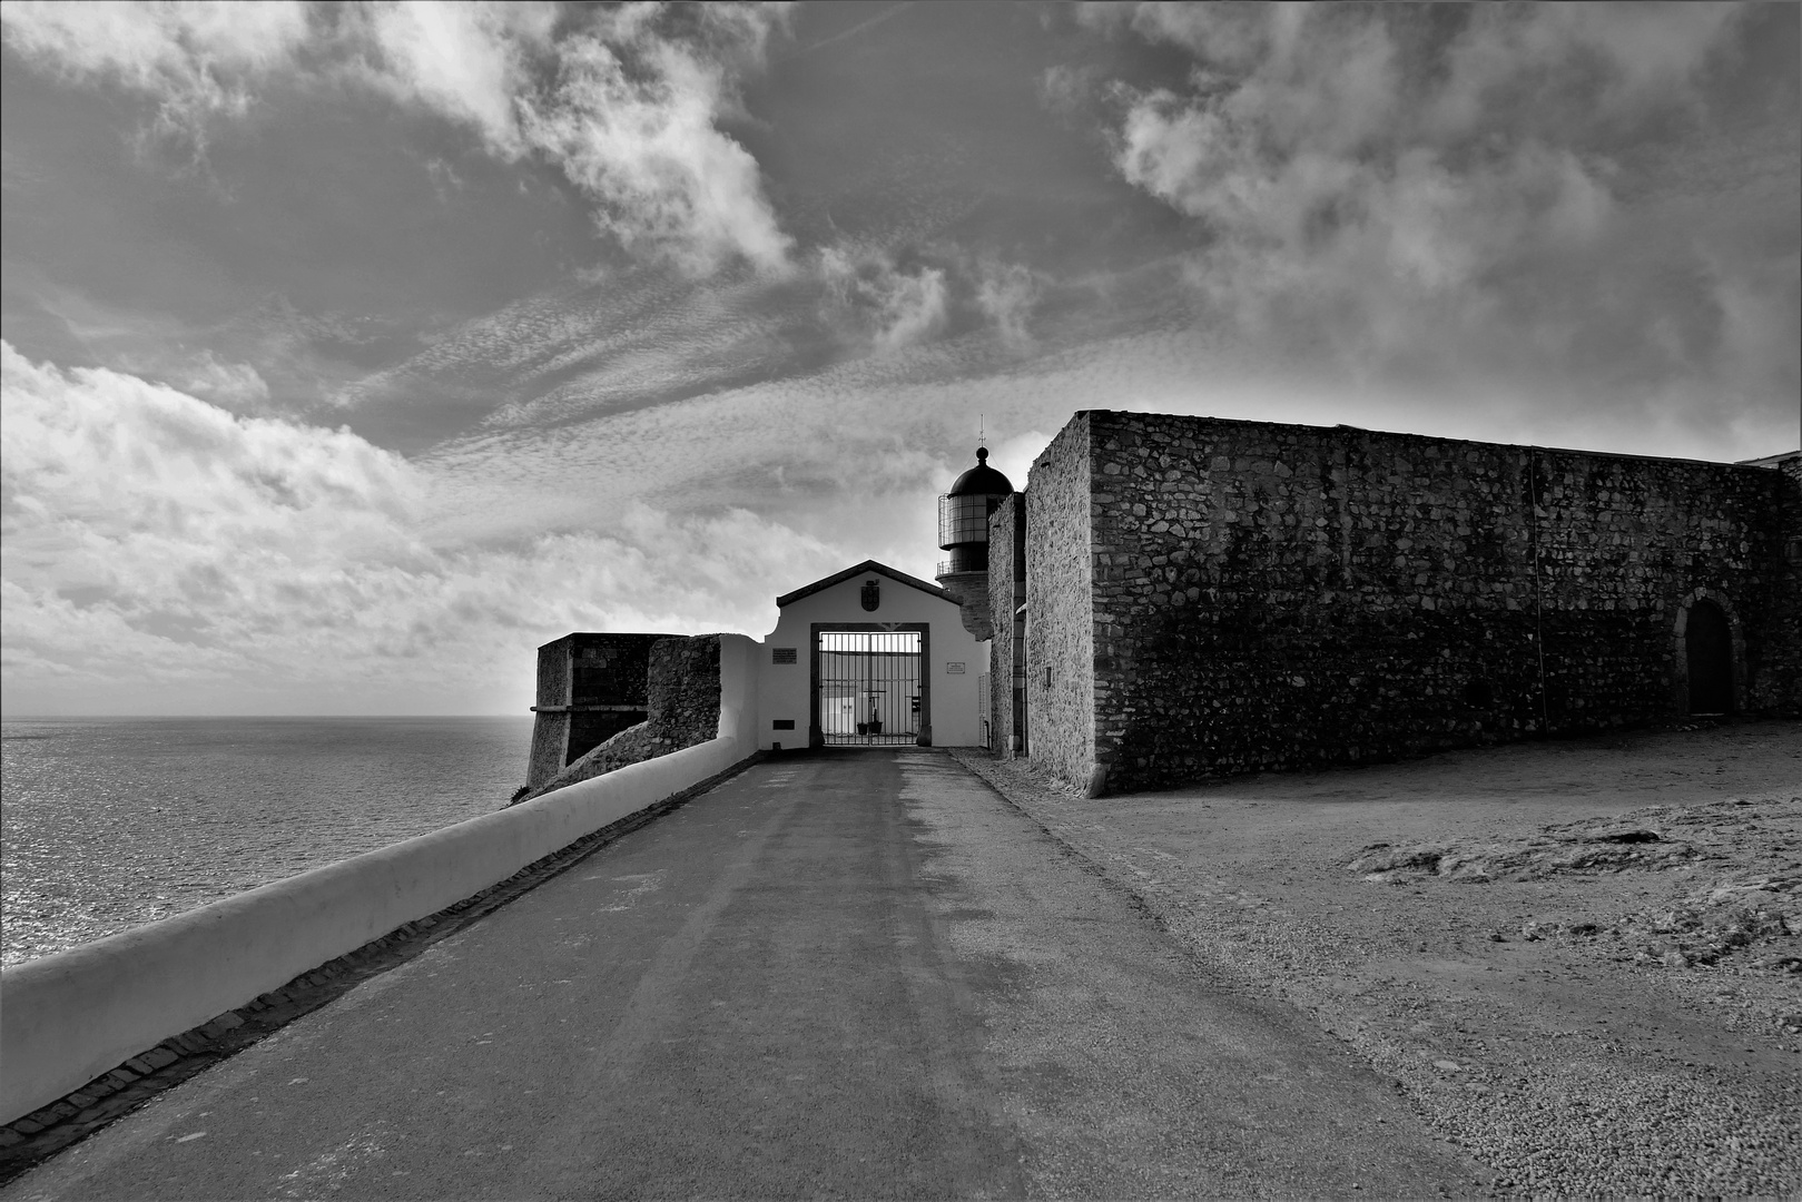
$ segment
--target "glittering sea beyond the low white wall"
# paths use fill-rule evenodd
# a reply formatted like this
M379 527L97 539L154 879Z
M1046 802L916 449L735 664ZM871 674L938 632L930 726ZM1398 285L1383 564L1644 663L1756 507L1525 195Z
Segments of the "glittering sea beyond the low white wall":
M0 964L503 809L521 717L4 717Z

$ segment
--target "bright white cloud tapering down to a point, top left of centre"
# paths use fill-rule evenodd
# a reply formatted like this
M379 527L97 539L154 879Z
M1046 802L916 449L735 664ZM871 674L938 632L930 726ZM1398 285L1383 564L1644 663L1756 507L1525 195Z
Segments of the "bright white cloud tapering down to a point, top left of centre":
M782 5L625 5L559 32L548 4L387 4L362 23L375 87L470 126L503 159L539 157L596 204L627 250L694 276L782 274L757 160L721 123L786 29Z

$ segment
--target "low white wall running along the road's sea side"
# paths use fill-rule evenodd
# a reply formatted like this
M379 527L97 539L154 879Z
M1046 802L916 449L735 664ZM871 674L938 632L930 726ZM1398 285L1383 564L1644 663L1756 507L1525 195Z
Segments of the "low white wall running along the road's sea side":
M0 1123L726 771L757 750L755 660L721 643L710 742L0 971Z

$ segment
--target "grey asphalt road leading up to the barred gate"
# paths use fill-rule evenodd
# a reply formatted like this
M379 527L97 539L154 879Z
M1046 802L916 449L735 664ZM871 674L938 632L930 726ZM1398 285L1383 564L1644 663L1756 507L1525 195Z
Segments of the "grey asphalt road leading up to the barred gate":
M1463 1195L933 751L760 764L0 1198Z

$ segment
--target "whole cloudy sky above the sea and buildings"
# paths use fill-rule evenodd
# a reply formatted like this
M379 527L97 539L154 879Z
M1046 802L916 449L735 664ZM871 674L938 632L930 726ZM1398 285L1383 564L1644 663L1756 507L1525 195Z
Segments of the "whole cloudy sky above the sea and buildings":
M1802 7L0 4L0 708L524 714L1081 409L1802 440Z

